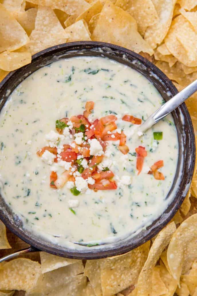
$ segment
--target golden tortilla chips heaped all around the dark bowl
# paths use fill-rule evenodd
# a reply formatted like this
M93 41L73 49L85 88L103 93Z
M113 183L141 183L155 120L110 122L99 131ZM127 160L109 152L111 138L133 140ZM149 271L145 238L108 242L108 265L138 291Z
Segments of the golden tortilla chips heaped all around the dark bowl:
M90 40L148 56L180 91L197 78L197 0L0 0L0 81L40 50ZM186 104L197 136L197 94ZM0 296L197 296L195 198L196 168L180 210L151 241L107 259L40 252L41 264L1 263ZM9 248L0 221L0 249Z

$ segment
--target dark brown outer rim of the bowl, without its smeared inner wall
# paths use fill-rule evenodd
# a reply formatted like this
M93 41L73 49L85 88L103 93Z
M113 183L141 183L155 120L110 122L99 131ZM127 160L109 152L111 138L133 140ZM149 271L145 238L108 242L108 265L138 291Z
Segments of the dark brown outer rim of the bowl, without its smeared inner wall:
M133 59L136 59L136 60L140 61L142 64L145 64L148 68L150 68L152 70L152 72L154 74L156 74L157 76L159 76L159 78L162 78L162 81L165 81L165 86L167 86L167 89L170 88L170 91L171 91L172 95L175 95L175 94L178 93L178 90L176 89L176 87L174 86L174 84L172 83L172 81L165 75L165 73L163 73L159 68L157 68L157 66L155 66L152 62L150 62L146 58L142 57L141 55L139 55L139 54L137 54L135 52L132 52L129 49L123 48L123 47L118 46L118 45L113 45L113 44L105 43L105 42L77 41L77 42L69 42L69 43L65 43L65 44L51 46L51 47L49 47L47 49L44 49L44 50L42 50L42 51L34 54L32 56L32 62L35 61L36 59L40 58L40 57L44 57L48 53L51 53L52 54L53 52L58 52L58 51L60 53L60 51L62 49L65 49L68 52L69 51L72 51L72 50L78 50L78 51L80 51L80 49L82 50L83 48L86 48L88 46L90 46L91 48L109 48L113 52L120 51L120 52L123 52L124 54L127 54L128 56L132 57ZM74 49L74 48L77 48L77 49ZM113 59L113 56L111 56L111 59ZM31 65L32 62L30 64L28 64L28 65ZM21 71L21 69L24 69L25 67L28 67L28 65L25 65L25 66L23 66L23 67L21 67L21 68L19 68L17 70L14 70L14 71L10 72L1 81L1 83L0 83L0 93L1 93L1 88L9 82L9 79L12 78L12 76L13 75L17 75L17 73L19 71ZM0 102L1 102L1 100L0 100ZM183 108L184 113L185 113L185 117L186 117L186 119L188 121L189 135L190 135L191 144L192 144L190 173L188 175L188 179L187 179L188 182L186 184L188 186L188 189L189 189L189 186L190 186L191 180L192 180L192 176L193 176L194 166L195 166L195 153L196 153L195 136L194 136L194 130L193 130L193 125L192 125L191 117L190 117L190 114L189 114L189 112L187 110L187 107L186 107L185 103L183 103L181 105L181 108ZM4 213L2 213L2 210L0 211L0 219L3 221L3 223L15 235L17 235L19 238L21 238L22 240L24 240L25 242L27 242L28 244L32 245L33 247L35 247L35 248L37 248L39 250L42 250L42 251L45 251L45 252L49 252L49 253L51 253L53 255L58 255L58 256L66 257L66 258L74 258L74 259L100 259L100 258L106 258L106 257L111 257L111 256L115 256L115 255L120 255L120 254L126 253L126 252L128 252L128 251L130 251L130 250L132 250L132 249L134 249L134 248L136 248L138 246L140 246L141 244L145 243L146 241L148 241L152 237L154 237L164 226L167 225L167 223L175 215L176 211L180 208L180 206L181 206L181 204L182 204L182 202L183 202L183 200L184 200L184 198L186 196L186 193L187 193L187 191L183 193L183 196L179 199L179 202L176 204L176 207L171 211L170 214L167 215L167 217L165 218L165 220L162 222L162 225L161 224L158 224L153 229L154 231L152 233L149 232L144 237L138 239L137 242L132 247L130 245L123 245L123 246L121 246L119 248L117 248L117 247L115 247L115 248L108 248L107 250L102 250L102 248L95 247L94 249L88 248L88 252L84 252L83 249L81 249L81 250L75 249L74 252L73 252L73 250L72 251L69 250L69 249L66 249L65 250L65 248L63 248L63 247L62 247L62 249L64 249L64 250L59 250L59 249L56 249L54 247L46 246L45 243L44 243L44 241L46 242L46 240L43 240L43 243L40 243L40 241L37 241L37 240L33 239L32 237L30 237L27 234L27 231L25 231L24 229L20 229L20 228L18 228L16 226L14 227L13 222L10 222L9 218L6 215L4 215ZM162 215L161 215L161 217L162 217ZM159 219L161 217L159 217ZM50 242L49 242L49 244L50 244Z

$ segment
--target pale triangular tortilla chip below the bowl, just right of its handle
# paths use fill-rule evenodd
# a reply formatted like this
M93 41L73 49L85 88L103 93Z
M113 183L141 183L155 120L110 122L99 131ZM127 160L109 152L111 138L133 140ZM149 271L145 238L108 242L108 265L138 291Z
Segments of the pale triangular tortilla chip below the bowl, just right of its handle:
M63 258L49 253L40 252L42 274L70 264L82 262L81 260Z

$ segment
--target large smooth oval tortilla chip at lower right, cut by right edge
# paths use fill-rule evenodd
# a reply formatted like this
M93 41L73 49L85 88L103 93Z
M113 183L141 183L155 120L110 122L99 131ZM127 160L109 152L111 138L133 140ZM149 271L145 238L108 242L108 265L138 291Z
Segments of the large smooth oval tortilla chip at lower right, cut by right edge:
M167 262L177 284L180 283L181 274L191 268L195 259L197 259L197 214L180 224L167 249Z

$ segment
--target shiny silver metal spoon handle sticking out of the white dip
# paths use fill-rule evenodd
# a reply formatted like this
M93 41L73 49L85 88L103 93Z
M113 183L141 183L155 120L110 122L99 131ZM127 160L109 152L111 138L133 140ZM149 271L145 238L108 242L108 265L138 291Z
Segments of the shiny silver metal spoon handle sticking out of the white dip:
M191 84L186 86L182 91L172 97L169 101L163 104L157 111L155 111L144 123L139 126L138 134L141 136L143 132L154 126L159 120L170 114L186 99L188 99L193 93L197 91L197 79ZM197 102L196 102L197 103Z

